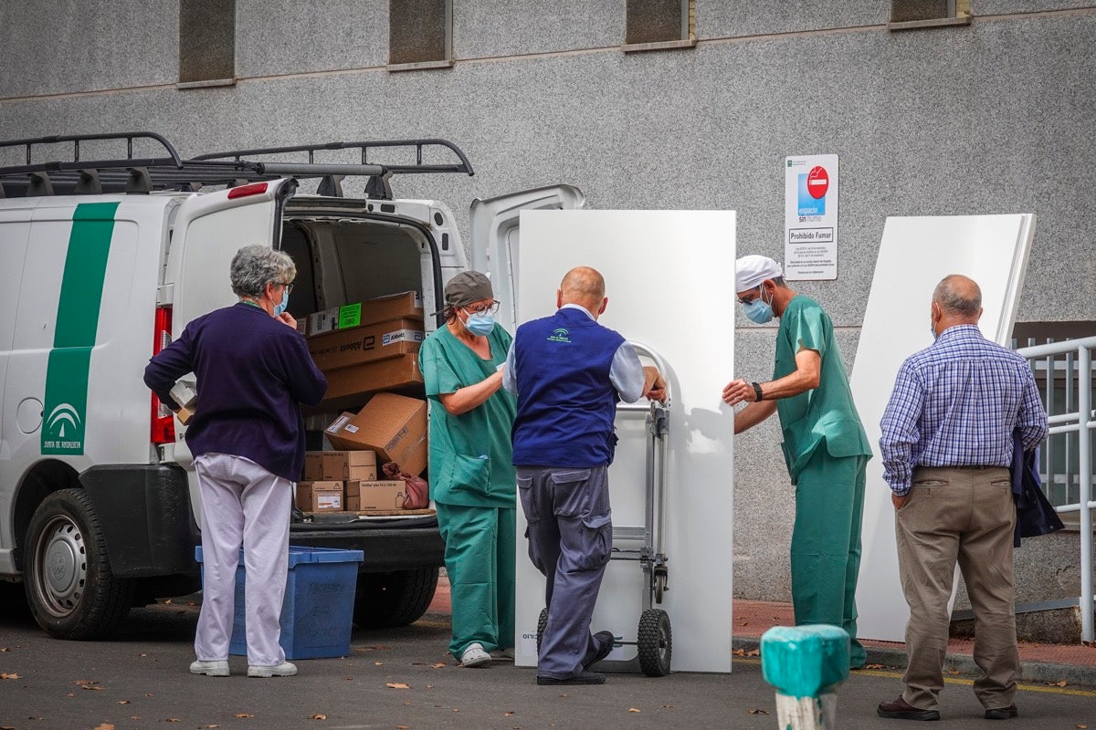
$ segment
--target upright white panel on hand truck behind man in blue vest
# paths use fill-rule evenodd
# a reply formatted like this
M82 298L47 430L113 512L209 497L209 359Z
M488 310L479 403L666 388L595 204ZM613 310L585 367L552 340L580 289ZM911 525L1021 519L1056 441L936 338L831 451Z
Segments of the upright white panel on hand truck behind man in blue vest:
M733 417L721 398L734 372L733 211L523 211L518 321L548 316L574 266L606 280L600 322L665 360L671 385L665 508L670 590L661 607L673 628L675 671L731 671ZM609 471L615 525L643 524L644 438L633 415L617 418ZM517 663L536 664L544 578L527 555L517 510ZM630 546L635 546L632 543ZM593 630L636 640L644 582L635 561L606 570ZM635 647L610 659L628 660Z

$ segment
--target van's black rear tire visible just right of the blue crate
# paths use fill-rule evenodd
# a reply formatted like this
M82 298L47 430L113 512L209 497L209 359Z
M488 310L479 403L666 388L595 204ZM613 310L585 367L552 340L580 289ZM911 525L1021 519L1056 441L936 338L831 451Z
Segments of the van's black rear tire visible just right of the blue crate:
M436 567L358 573L354 623L361 628L413 624L426 613L436 589Z

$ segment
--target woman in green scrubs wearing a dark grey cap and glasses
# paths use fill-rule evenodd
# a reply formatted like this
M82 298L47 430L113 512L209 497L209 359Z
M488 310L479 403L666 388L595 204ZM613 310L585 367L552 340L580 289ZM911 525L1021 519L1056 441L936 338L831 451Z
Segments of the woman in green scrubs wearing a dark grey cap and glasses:
M511 336L494 324L491 282L465 271L445 287L446 324L419 366L430 398L430 496L445 540L453 601L449 651L466 667L513 658L516 480L502 385Z

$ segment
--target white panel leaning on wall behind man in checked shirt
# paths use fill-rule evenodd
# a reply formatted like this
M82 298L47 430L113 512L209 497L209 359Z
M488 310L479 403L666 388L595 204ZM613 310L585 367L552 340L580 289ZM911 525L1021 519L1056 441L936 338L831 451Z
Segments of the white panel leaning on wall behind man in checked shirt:
M1034 231L1031 213L887 219L852 376L853 397L874 452L856 591L860 638L904 641L910 617L898 573L894 508L879 456L879 420L894 375L905 358L932 344L933 289L949 274L978 282L982 334L1008 345Z

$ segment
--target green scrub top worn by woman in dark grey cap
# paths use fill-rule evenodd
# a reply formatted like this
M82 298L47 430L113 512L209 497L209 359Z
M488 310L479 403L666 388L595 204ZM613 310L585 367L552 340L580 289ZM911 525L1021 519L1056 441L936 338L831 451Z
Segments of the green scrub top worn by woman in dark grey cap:
M514 507L515 478L510 431L517 399L499 389L466 414L454 416L438 395L455 393L493 374L506 361L513 339L495 325L484 360L441 327L422 344L419 368L430 398L430 496L444 505Z

